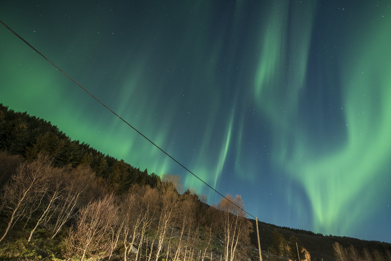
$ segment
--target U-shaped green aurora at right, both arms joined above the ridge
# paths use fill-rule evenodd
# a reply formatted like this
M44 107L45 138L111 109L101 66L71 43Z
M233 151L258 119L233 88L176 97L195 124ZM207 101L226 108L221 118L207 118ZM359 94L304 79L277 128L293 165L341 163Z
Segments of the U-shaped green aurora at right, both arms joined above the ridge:
M279 8L280 13L287 10ZM305 130L294 124L306 117L298 115L297 108L300 89L305 84L311 20L308 15L303 18L305 22L293 23L297 34L292 38L285 36L287 25L279 16L269 20L260 47L255 97L261 110L273 121L273 131L277 133L272 153L276 166L284 166L307 193L313 210L314 231L341 235L357 229L358 216L361 219L371 216L378 195L367 192L368 184L384 175L379 170L391 156L391 59L387 51L391 36L383 32L389 28L391 19L373 18L376 25L371 28L355 25L366 30L361 34L352 32L348 38L348 45L355 52L346 54L340 61L341 68L346 70L341 82L346 138L334 151L323 154L314 151L321 145L314 146L305 137ZM371 40L364 43L363 38ZM291 45L284 53L287 41ZM281 80L283 74L288 77ZM303 209L296 195L293 189L289 201ZM360 206L356 204L358 199Z

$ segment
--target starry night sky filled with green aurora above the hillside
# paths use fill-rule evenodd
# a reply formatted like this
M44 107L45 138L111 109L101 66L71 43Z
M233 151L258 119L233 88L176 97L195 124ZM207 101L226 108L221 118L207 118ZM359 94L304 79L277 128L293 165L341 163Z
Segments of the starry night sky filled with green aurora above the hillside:
M391 7L11 1L0 20L260 221L391 242ZM221 197L0 25L0 103Z

